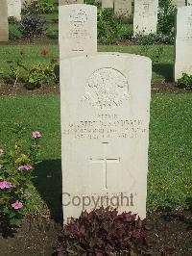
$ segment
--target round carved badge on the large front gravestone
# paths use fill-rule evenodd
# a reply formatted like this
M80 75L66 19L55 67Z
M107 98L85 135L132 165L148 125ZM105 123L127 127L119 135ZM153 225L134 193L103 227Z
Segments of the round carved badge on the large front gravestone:
M119 107L128 99L128 81L118 70L104 67L96 70L85 85L84 101L101 110Z

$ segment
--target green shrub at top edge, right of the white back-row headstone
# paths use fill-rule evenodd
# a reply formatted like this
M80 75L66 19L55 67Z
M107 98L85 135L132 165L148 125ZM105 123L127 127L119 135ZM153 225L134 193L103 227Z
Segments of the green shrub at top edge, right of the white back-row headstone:
M174 35L174 23L177 13L172 0L160 0L158 11L158 32L163 35Z

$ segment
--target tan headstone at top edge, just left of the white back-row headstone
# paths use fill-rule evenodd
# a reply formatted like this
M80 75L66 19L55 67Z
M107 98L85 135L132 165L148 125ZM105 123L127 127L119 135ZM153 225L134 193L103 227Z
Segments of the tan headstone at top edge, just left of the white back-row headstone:
M114 13L129 16L132 14L132 0L114 0Z

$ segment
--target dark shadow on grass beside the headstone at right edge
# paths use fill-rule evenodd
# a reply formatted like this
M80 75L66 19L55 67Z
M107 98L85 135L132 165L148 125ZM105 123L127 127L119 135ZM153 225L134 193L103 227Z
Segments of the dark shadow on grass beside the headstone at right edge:
M173 82L173 64L153 64L153 71L156 72L156 74L163 76L165 82Z

